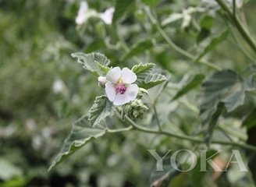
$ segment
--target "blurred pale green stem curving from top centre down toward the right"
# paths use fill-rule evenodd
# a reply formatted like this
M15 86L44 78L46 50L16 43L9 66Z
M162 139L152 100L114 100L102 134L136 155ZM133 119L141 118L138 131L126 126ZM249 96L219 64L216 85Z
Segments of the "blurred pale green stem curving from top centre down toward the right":
M177 46L165 33L165 30L162 30L162 27L158 24L158 22L156 21L156 19L152 16L150 10L148 8L144 8L145 12L148 15L148 18L150 19L151 23L153 25L156 26L158 32L162 35L162 37L165 39L165 41L167 42L167 44L169 44L169 46L171 48L173 48L174 50L176 50L177 52L179 52L180 54L186 56L187 58L190 58L191 60L195 60L196 57L192 54L190 54L189 52L183 50L182 48L180 48L179 46ZM215 70L221 70L221 68L218 65L212 64L211 62L208 62L204 59L200 59L198 61L199 63L208 66L209 68L215 69Z

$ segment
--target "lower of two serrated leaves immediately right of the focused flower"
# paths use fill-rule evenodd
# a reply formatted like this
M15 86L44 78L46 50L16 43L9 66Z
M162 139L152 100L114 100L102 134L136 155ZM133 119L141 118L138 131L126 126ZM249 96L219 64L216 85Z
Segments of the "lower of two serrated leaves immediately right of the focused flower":
M162 74L158 74L158 73L148 74L148 76L140 83L137 83L137 85L144 89L150 89L151 87L157 86L158 84L164 82L165 80L166 80L166 77L163 76Z

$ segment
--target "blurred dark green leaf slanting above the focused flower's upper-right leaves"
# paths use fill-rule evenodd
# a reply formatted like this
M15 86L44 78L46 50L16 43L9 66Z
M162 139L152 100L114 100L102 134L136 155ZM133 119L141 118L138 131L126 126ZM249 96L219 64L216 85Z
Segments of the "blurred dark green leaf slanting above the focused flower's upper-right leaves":
M150 48L153 47L153 43L151 40L145 40L145 41L140 41L139 43L135 44L133 48L130 49L122 58L122 60L125 60L127 58L131 58L134 55L138 55L143 51L146 51Z

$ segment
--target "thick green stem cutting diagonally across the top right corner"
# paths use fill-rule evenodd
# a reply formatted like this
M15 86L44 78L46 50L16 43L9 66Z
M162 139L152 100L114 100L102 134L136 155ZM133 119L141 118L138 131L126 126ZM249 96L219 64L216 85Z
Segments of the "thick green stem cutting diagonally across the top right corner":
M251 49L254 52L256 52L256 43L254 39L251 37L251 34L249 34L248 30L245 29L245 26L243 26L242 23L240 23L240 20L237 19L236 14L233 14L233 12L229 9L226 3L223 2L222 0L216 0L216 2L218 2L219 5L222 7L222 9L227 13L227 15L229 16L229 19L236 26L237 30L240 32L242 37L244 37L244 40L247 41L247 44L249 44Z

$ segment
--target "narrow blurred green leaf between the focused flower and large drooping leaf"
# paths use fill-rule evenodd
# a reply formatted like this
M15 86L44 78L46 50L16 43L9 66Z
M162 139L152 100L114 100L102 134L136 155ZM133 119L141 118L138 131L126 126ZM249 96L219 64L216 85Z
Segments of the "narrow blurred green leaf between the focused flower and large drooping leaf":
M187 94L190 90L193 90L196 86L201 84L204 79L204 75L197 74L192 76L188 82L177 92L177 94L172 98L172 101L182 97L184 94Z

